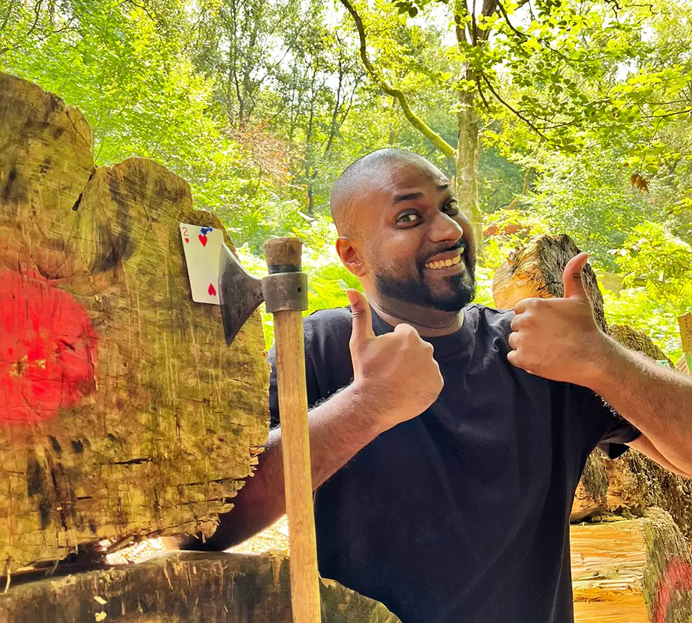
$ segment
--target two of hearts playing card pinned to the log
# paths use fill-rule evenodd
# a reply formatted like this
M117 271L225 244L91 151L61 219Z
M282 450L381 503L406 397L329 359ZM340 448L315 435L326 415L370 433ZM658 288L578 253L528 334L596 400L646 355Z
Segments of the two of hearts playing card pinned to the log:
M219 255L224 232L219 228L180 224L185 264L188 266L192 300L221 305L219 301Z

